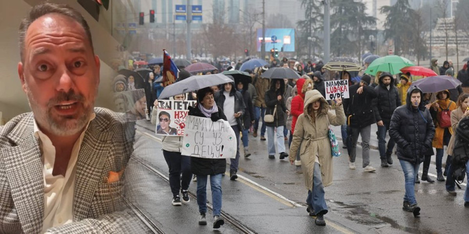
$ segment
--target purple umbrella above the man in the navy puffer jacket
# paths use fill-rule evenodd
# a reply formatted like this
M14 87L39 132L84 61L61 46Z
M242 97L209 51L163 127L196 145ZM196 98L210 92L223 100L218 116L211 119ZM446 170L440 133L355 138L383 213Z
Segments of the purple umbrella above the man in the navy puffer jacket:
M419 87L423 93L437 93L447 89L455 89L461 81L450 76L434 76L419 79L410 86Z

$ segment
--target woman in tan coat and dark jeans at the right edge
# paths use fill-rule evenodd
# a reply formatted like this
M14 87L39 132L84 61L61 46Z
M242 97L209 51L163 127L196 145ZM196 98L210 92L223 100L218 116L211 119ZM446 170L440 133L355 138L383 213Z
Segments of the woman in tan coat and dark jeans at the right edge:
M457 127L461 119L468 117L469 116L469 94L463 93L459 96L458 101L456 106L458 107L456 110L451 112L451 127L453 128L453 132L456 132ZM453 156L453 149L454 149L454 143L456 140L456 134L451 136L451 139L449 140L448 144L448 158L450 156ZM447 163L450 162L451 160L447 160ZM457 195L455 191L455 179L453 177L453 172L455 169L457 169L457 165L452 165L451 163L448 166L448 176L446 180L446 191L450 195ZM468 193L468 192L467 192ZM466 193L466 194L467 194ZM467 202L469 203L469 199L467 199ZM468 204L469 205L469 204Z

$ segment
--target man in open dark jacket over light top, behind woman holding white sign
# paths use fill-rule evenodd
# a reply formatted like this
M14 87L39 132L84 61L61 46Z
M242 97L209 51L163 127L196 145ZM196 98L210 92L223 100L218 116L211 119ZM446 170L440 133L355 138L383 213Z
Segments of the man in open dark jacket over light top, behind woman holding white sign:
M230 179L235 180L238 178L236 173L238 172L239 163L239 132L243 130L241 116L244 115L246 106L244 105L243 95L236 91L235 79L230 75L227 77L233 79L233 82L221 86L221 90L215 94L215 102L217 106L221 107L231 128L235 131L237 144L236 157L230 159Z

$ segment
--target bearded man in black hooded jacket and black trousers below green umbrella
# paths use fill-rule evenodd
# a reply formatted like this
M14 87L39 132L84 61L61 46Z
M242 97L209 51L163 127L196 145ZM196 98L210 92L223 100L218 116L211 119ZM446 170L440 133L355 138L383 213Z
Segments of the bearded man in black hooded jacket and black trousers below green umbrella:
M389 123L394 110L401 105L401 98L397 88L394 86L394 78L389 73L381 74L380 85L375 87L376 98L373 100L373 112L378 125L378 148L380 150L381 166L388 167L392 164L392 149L394 140L387 142L386 132L389 130Z

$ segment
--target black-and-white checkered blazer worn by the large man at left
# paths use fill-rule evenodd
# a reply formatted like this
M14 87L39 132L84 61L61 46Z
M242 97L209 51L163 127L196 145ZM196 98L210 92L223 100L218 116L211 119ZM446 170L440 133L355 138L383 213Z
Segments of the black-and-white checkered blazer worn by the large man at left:
M133 228L140 226L122 202L124 178L107 180L109 172L121 172L128 163L134 124L104 108L95 113L76 163L73 223L48 232L135 233ZM33 113L25 113L0 128L0 233L42 231L43 163L33 121Z

